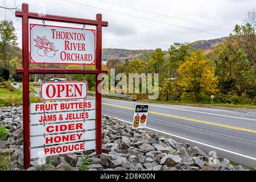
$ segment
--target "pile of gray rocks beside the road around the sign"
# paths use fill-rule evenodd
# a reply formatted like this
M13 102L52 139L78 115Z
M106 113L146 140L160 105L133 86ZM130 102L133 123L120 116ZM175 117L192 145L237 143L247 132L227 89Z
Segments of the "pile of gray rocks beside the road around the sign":
M0 155L11 155L10 170L23 170L22 107L2 107L0 125L10 131L0 141ZM232 166L228 159L216 159L199 147L178 143L152 131L132 129L131 124L102 117L102 155L94 151L48 156L31 161L28 170L136 170L136 171L224 171L247 170Z

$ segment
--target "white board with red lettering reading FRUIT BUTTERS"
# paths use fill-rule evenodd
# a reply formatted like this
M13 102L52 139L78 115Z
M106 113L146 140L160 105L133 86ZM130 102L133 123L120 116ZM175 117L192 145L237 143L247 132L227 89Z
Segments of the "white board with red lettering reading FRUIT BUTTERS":
M95 109L95 100L31 103L30 113Z

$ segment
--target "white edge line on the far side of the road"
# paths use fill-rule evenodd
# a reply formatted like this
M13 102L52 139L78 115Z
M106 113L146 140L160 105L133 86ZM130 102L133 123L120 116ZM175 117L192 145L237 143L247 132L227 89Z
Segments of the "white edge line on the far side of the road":
M94 96L89 96L89 97L94 97ZM120 101L120 102L129 102L129 103L131 103L131 104L142 104L142 102L122 101L122 100L115 100L115 99L111 99L111 98L102 98L102 100L103 100L103 99L112 100L112 101ZM224 116L224 117L239 118L239 119L247 119L247 120L256 121L256 119L237 117L237 116L233 116L233 115L216 114L216 113L207 113L207 112L204 112L204 111L196 111L196 110L189 110L189 109L180 109L180 108L167 107L167 106L158 106L158 105L148 104L148 103L147 103L147 105L154 106L154 107L162 107L162 108L166 108L166 109L185 110L185 111L194 112L194 113L204 113L204 114L220 115L220 116Z

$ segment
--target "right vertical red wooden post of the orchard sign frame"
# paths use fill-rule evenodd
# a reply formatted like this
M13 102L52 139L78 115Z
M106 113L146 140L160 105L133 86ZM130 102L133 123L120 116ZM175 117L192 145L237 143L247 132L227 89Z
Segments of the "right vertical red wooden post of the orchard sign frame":
M96 20L98 22L102 21L102 15L97 14ZM102 24L98 24L96 27L96 69L101 71L101 46L102 46ZM98 75L96 74L96 155L100 155L102 152L101 143L101 80L98 80Z

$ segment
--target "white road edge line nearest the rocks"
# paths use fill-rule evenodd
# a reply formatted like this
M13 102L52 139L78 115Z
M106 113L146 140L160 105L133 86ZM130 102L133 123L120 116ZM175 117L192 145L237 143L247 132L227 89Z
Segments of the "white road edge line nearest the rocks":
M106 114L102 114L102 115L106 115ZM106 116L112 117L112 116L110 116L110 115L106 115ZM112 117L112 118L114 118L114 117ZM114 119L118 119L118 120L120 120L120 121L122 121L122 122L126 122L126 123L132 124L132 122L125 121L125 120L123 120L123 119L119 119L119 118L114 118ZM215 148L215 149L217 149L217 150L221 150L221 151L224 151L224 152L229 152L230 154L239 155L239 156L242 156L242 157L244 157L244 158L248 158L248 159L252 159L252 160L255 160L255 161L256 161L256 158L253 158L253 157L251 157L251 156L247 156L247 155L244 155L244 154L240 154L240 153L237 153L237 152L233 152L233 151L230 151L230 150L226 150L226 149L224 149L224 148L215 147L215 146L212 146L212 145L210 145L210 144L206 144L206 143L202 143L202 142L197 142L197 141L192 140L192 139L189 139L189 138L180 137L180 136L178 136L178 135L170 134L170 133L167 133L167 132L165 132L165 131L160 131L160 130L152 129L152 128L150 128L150 127L146 127L146 129L149 129L149 130L152 130L152 131L156 131L156 132L158 132L158 133L167 134L167 135L170 135L170 136L172 136L172 137L176 137L176 138L188 140L189 142L198 143L198 144L201 144L201 145L203 145L203 146Z

